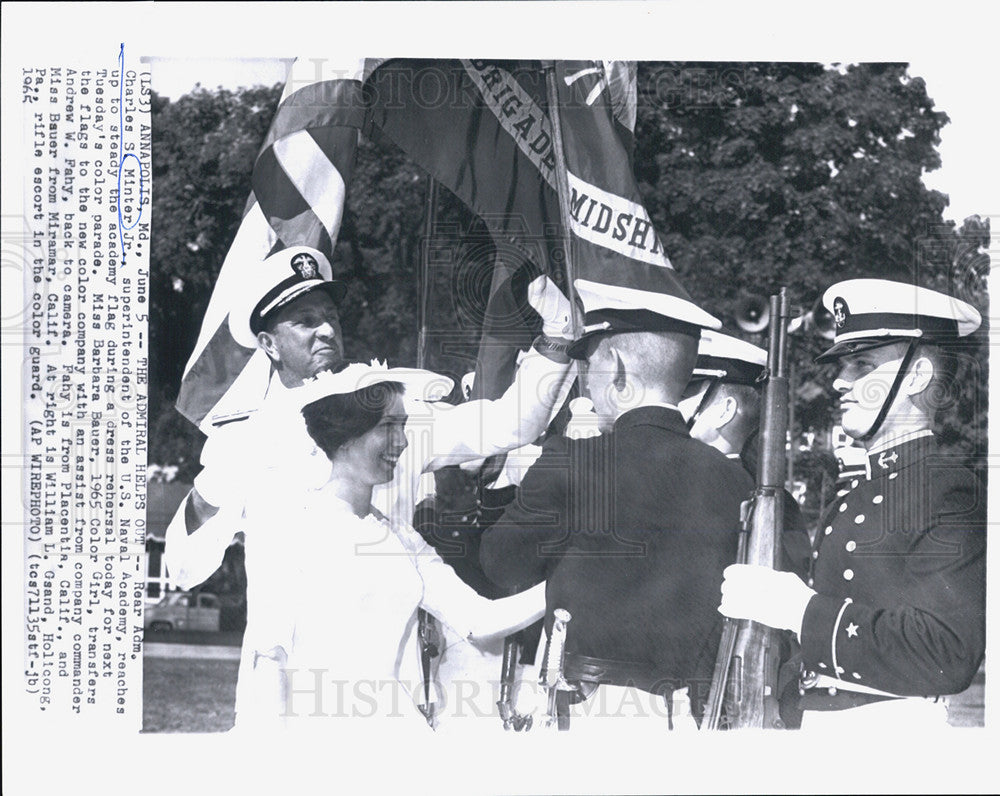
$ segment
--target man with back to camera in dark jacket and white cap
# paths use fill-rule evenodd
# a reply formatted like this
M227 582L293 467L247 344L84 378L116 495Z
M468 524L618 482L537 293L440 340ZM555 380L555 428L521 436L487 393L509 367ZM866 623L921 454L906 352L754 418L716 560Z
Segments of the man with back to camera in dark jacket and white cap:
M707 695L715 595L753 483L693 440L677 409L699 331L719 322L681 289L576 287L586 326L571 354L602 433L546 440L518 499L483 534L483 567L512 591L547 582L548 634L557 609L571 615L573 693L556 702L560 726L569 716L574 734L662 737L671 719L693 726L677 692L687 689L696 715Z

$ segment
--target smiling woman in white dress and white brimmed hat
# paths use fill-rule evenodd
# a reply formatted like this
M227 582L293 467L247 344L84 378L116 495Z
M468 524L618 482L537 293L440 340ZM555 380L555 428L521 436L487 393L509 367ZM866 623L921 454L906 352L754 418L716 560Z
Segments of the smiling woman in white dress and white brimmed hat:
M418 607L476 639L543 615L544 584L501 600L481 597L411 527L390 524L372 507L373 489L392 480L407 444L404 392L419 394L430 379L441 377L351 365L292 391L329 470L318 487L306 474L272 471L248 512L280 529L259 537L270 540L266 554L283 576L254 639L267 652L254 666L257 709L241 711L241 726L342 731L345 719L363 718L348 726L426 731L415 704L423 689ZM491 684L464 686L464 695L438 694L439 702L475 695L475 708L493 707Z

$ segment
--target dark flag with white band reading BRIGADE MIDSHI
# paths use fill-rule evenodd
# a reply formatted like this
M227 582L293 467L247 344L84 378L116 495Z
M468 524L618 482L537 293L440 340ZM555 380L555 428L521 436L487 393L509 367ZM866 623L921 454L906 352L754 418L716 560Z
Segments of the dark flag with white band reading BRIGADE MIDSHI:
M529 261L566 288L542 67L538 61L388 60L366 83L369 126L484 219L501 260ZM632 171L635 65L557 61L554 69L575 279L589 288L588 296L618 291L640 304L644 294L689 301ZM518 272L508 264L493 282L478 367L490 382L488 397L502 392L512 372L504 341L516 324L510 308L523 303L512 296Z

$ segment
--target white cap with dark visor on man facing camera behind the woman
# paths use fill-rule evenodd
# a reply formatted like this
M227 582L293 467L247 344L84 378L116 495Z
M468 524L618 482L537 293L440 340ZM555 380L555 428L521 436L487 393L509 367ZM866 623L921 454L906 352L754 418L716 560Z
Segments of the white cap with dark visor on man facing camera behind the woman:
M311 246L291 246L248 266L237 288L229 313L229 331L244 348L257 347L257 333L266 316L299 296L322 289L334 301L344 297L346 286L333 279L330 261Z

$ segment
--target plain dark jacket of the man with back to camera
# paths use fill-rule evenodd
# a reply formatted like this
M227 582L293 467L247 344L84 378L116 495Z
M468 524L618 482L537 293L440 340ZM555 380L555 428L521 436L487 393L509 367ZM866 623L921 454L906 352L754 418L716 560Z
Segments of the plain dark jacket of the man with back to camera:
M568 679L689 686L698 715L722 627L722 570L752 488L738 461L691 439L675 409L633 409L601 436L545 443L484 533L483 567L512 591L547 581L546 629L555 609L572 615Z

